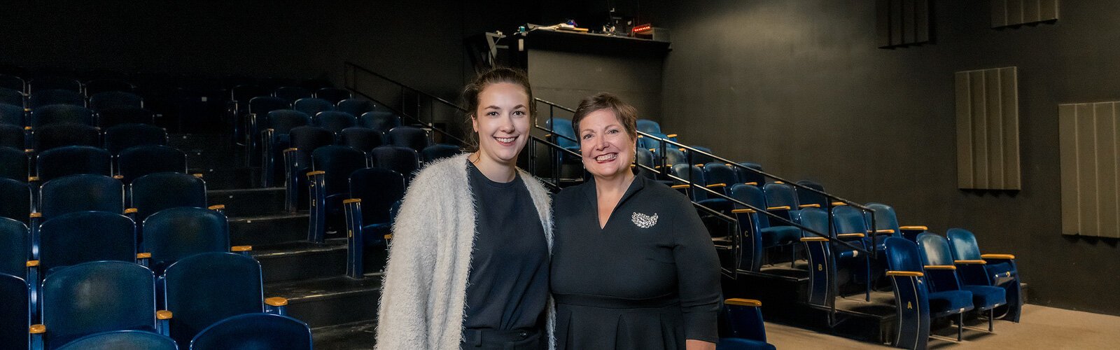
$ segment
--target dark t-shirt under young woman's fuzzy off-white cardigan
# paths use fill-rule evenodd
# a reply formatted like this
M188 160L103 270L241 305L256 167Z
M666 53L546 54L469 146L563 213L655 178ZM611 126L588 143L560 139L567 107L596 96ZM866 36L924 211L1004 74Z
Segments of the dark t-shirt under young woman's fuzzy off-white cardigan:
M520 175L498 183L468 168L477 233L463 325L538 328L549 298L549 247L533 199Z

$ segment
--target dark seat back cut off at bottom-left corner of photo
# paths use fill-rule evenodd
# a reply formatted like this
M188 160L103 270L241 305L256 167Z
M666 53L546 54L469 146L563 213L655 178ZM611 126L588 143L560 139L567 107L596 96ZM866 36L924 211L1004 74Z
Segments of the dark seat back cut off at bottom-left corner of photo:
M22 276L22 273L20 274ZM31 325L30 288L24 278L0 273L0 344L28 349Z

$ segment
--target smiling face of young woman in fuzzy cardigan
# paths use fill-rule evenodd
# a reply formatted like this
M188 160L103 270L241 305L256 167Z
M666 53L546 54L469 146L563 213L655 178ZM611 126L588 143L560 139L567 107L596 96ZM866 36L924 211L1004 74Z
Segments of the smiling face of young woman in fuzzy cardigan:
M472 126L478 133L479 162L504 166L517 163L529 140L529 94L513 83L491 84L478 93Z

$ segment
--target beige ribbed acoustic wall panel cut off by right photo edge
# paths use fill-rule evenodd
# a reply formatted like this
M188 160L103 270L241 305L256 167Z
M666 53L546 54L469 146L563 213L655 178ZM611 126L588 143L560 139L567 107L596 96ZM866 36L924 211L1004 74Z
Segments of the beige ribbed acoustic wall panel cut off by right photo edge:
M1058 105L1062 233L1120 238L1120 102Z

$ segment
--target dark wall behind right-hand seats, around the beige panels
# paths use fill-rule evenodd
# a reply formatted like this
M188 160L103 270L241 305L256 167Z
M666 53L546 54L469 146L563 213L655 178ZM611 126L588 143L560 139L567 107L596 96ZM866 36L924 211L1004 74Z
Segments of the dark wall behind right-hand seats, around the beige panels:
M1057 150L1058 103L1120 100L1120 2L999 30L988 1L931 2L934 44L879 49L875 1L665 1L663 129L902 224L968 228L1017 255L1032 303L1120 314L1117 241L1061 234ZM953 72L1004 66L1019 67L1023 191L958 190Z

